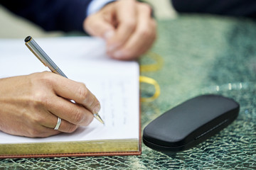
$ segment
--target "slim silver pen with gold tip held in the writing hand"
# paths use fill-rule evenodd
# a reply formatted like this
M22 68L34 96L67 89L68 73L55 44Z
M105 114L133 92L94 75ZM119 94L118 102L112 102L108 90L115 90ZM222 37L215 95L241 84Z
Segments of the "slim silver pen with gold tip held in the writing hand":
M66 77L66 75L60 70L60 68L50 59L50 57L43 51L43 49L36 43L31 36L25 38L25 44L31 52L40 60L46 67L50 69L51 72L59 74L60 76ZM68 77L66 77L68 78ZM102 118L98 113L94 113L93 116L104 124Z

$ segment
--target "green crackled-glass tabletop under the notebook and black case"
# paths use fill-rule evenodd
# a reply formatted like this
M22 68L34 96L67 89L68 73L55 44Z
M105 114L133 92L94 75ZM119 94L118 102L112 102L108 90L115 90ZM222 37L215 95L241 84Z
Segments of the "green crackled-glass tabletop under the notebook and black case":
M1 159L0 169L256 169L256 23L246 18L179 16L158 21L151 52L164 64L142 75L158 81L161 95L142 103L142 130L188 98L222 94L240 103L238 118L200 145L161 153L142 144L142 155ZM145 55L140 64L154 63ZM154 88L140 87L142 96Z

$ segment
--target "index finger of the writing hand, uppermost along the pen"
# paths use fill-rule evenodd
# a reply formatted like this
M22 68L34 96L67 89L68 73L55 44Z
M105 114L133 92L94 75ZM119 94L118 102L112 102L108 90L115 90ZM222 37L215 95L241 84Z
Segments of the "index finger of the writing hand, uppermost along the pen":
M91 113L98 113L100 111L100 102L87 89L85 84L60 77L59 75L56 75L55 78L53 80L53 90L58 96L73 100L75 103L80 103Z

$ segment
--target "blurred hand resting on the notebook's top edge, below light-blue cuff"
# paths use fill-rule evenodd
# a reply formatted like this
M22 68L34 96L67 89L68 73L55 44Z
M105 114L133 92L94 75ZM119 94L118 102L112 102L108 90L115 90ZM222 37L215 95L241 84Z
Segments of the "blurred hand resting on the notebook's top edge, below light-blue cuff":
M84 29L90 35L104 38L107 54L118 60L137 59L156 39L151 7L135 0L107 4L85 19Z

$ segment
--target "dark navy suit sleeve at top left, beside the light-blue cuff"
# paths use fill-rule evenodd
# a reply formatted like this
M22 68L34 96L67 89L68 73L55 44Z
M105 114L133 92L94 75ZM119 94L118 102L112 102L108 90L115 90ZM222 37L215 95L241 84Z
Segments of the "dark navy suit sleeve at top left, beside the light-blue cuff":
M45 30L82 30L87 7L92 0L0 0L18 16Z

